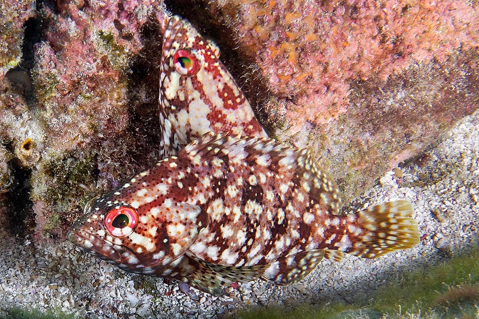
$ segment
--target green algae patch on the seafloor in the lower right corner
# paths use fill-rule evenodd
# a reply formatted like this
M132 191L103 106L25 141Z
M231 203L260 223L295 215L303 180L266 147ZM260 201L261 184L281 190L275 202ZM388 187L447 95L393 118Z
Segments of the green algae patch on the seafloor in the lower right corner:
M479 318L479 252L460 253L404 274L367 303L272 306L242 310L238 319Z

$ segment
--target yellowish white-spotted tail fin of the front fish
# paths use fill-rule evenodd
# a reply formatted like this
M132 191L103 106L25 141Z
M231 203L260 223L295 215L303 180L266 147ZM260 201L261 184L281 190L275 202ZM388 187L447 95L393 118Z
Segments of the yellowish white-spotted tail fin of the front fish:
M392 201L359 211L357 216L362 236L358 236L359 240L347 253L376 258L418 244L419 225L411 217L413 212L413 205L407 200Z

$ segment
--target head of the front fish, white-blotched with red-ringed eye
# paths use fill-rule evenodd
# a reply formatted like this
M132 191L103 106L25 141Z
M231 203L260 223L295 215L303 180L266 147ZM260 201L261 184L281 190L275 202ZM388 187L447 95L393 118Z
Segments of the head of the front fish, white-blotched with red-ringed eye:
M145 192L134 193L139 191ZM131 189L120 187L92 198L67 239L123 270L158 274L188 250L207 223L198 205L164 196L140 203Z

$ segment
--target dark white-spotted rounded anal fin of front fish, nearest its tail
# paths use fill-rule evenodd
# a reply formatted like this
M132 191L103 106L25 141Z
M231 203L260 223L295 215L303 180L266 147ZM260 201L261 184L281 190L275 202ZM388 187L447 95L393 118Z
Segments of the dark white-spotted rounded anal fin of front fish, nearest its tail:
M276 285L296 283L316 268L324 256L324 249L313 249L281 257L271 265L261 279Z

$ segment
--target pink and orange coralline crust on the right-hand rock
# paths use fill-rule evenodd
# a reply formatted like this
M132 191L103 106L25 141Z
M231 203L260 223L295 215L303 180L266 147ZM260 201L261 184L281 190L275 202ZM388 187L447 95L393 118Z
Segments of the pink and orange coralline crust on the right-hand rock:
M479 43L478 13L463 1L265 2L231 1L225 19L242 48L255 52L271 93L304 97L296 104L315 105L305 119L315 124L346 112L349 80L385 81L413 63L445 62ZM230 6L239 14L228 14ZM314 94L321 99L307 103Z

